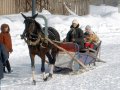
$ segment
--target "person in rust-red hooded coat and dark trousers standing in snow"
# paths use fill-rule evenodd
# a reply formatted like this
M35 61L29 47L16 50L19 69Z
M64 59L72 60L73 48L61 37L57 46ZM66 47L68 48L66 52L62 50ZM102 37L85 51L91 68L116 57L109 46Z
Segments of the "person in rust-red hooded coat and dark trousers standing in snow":
M5 49L8 55L13 52L10 28L8 24L1 25L0 43L2 43L5 46ZM9 60L7 60L4 65L4 68L3 68L4 73L6 73L5 67L7 68L8 73L12 72Z

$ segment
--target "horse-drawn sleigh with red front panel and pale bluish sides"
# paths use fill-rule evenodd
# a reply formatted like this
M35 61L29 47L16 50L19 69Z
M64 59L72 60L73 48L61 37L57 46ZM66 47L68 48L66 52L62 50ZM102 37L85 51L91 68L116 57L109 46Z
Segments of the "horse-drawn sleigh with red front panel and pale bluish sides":
M79 51L79 46L76 43L72 42L61 42L59 46L69 52L73 58L63 51L60 51L54 72L59 72L62 69L69 68L71 71L80 70L83 67L96 65L96 62L104 62L98 58L100 53L101 41L96 45L96 49L82 49ZM74 60L78 60L77 62ZM82 65L81 65L82 64Z

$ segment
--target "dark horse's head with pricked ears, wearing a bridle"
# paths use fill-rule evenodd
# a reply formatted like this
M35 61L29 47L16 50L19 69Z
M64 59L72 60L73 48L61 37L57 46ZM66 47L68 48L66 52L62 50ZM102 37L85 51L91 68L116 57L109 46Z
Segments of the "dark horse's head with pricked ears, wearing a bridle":
M40 38L41 38L40 31L42 31L41 30L42 28L41 28L41 25L35 20L37 15L38 14L35 14L32 17L26 17L24 14L22 14L22 16L25 19L24 20L25 30L21 35L21 38L25 39L26 42L38 43L40 41Z

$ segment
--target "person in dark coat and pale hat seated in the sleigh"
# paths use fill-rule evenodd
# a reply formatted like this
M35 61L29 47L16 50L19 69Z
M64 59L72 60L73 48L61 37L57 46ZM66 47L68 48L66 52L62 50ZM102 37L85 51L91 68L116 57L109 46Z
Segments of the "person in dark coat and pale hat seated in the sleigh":
M84 48L84 34L83 30L79 28L79 22L74 19L70 26L70 31L67 33L66 42L74 42L79 45L79 49Z

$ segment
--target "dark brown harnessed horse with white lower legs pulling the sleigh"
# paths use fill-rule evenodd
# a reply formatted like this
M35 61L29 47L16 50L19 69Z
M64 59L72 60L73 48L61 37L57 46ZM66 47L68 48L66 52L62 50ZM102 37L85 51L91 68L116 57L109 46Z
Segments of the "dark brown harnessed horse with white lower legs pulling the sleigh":
M43 80L47 80L48 77L52 77L53 75L56 55L59 52L58 48L56 48L54 45L52 45L45 39L44 28L42 28L41 25L35 20L37 15L38 14L35 14L32 17L26 17L24 14L22 14L25 19L25 30L21 35L21 38L23 38L28 45L34 84L36 84L34 77L35 55L38 55L42 59L41 71L43 72ZM60 41L59 33L52 27L48 27L48 38L51 40ZM49 76L45 75L45 56L48 57L50 64Z

